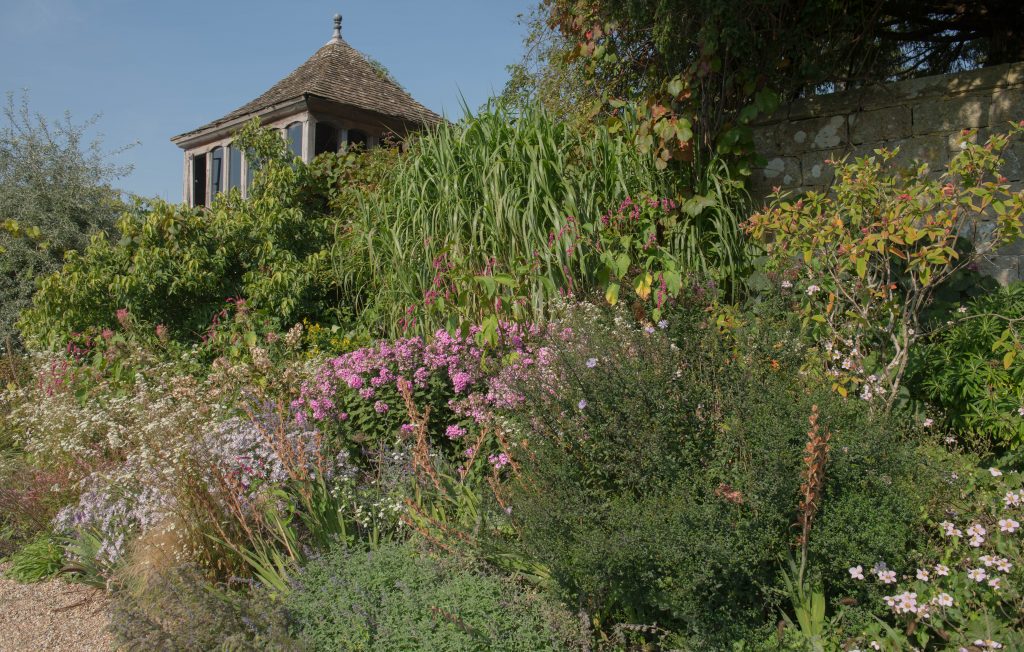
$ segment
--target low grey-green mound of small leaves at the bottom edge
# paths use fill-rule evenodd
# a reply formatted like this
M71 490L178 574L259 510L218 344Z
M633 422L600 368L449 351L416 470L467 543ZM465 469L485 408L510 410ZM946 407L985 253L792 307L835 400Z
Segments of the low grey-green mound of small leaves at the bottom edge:
M286 606L317 650L566 650L569 614L509 579L409 545L335 550L312 562Z

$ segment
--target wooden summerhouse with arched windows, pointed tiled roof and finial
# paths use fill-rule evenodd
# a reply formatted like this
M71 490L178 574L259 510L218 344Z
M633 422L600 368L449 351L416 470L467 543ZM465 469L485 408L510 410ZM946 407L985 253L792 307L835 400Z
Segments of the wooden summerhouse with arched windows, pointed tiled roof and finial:
M171 138L184 150L182 201L209 206L223 190L246 192L251 169L231 140L254 117L280 129L306 162L356 143L375 147L388 133L404 136L440 120L346 43L335 15L334 36L305 63L223 118Z

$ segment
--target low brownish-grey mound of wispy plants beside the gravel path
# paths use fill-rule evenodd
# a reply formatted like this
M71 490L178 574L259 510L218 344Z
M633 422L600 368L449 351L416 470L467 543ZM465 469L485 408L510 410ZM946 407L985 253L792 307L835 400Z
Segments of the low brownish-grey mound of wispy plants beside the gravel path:
M261 592L224 589L188 566L161 571L142 591L119 583L111 632L126 650L301 649L288 636L280 607Z

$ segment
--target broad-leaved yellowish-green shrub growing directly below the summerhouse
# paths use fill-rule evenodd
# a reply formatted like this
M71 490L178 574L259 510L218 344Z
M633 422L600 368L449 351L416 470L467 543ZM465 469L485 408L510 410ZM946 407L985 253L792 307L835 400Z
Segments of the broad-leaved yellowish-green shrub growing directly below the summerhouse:
M356 155L300 165L279 137L253 126L239 146L261 162L248 199L220 194L209 210L136 204L117 240L94 235L43 280L20 320L26 339L62 344L73 333L116 327L127 309L171 338L196 341L236 297L278 325L343 320L350 302L331 274L339 228L332 202Z

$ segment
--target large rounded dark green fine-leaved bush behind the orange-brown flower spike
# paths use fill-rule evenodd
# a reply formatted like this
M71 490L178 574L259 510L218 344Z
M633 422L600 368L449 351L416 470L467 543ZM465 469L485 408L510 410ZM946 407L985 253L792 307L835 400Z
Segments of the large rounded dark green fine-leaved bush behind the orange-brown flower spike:
M571 341L551 343L508 415L529 448L510 503L524 553L568 599L606 623L656 621L723 646L777 618L812 405L831 433L811 533L831 594L849 595L849 559L911 555L932 479L895 423L784 356L722 350L700 318L677 314L670 338L595 309L571 317ZM762 330L760 346L791 337L774 335Z

